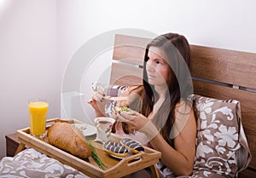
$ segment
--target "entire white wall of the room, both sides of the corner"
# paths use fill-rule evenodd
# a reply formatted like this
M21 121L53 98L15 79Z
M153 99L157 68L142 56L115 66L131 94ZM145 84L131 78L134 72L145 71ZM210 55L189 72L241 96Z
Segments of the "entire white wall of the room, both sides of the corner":
M253 0L7 1L12 2L9 9L0 9L0 158L3 135L28 124L28 98L46 98L49 118L60 115L61 81L69 60L103 32L179 32L190 43L256 53ZM90 93L83 97L90 99ZM89 106L85 112L93 117Z

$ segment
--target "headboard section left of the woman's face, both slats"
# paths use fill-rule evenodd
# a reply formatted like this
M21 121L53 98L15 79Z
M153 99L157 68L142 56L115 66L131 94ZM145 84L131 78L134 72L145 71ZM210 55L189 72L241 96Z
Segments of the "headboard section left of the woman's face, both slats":
M110 84L132 85L143 83L143 66L145 48L151 39L131 37L117 34L114 39L113 60L122 63L112 63ZM124 64L131 64L129 66Z

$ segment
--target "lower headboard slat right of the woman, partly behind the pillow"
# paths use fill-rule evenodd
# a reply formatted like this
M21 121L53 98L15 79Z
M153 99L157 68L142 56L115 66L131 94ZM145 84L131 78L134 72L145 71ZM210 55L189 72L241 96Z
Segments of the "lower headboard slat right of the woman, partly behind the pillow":
M212 83L194 81L194 91L197 95L217 98L220 100L239 100L241 103L241 122L247 135L249 148L253 158L249 167L256 169L256 93L240 89L232 89Z

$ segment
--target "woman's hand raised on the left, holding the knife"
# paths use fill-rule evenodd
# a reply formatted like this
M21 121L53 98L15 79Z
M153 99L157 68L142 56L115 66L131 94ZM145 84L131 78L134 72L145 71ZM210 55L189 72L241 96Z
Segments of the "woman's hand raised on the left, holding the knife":
M87 101L95 109L96 117L105 116L106 100L104 96L105 94L102 91L96 91L93 93L91 100Z

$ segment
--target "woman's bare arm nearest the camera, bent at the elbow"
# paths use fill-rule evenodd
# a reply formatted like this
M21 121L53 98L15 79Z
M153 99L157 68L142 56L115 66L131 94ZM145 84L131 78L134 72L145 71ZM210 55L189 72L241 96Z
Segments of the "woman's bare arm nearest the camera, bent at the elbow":
M187 118L181 116L180 123L175 123L174 147L170 146L164 138L158 134L150 144L155 150L161 152L161 160L176 175L191 175L195 158L196 123L193 110L187 114ZM176 120L177 121L177 120ZM179 121L177 121L179 122ZM184 123L185 122L185 123Z

